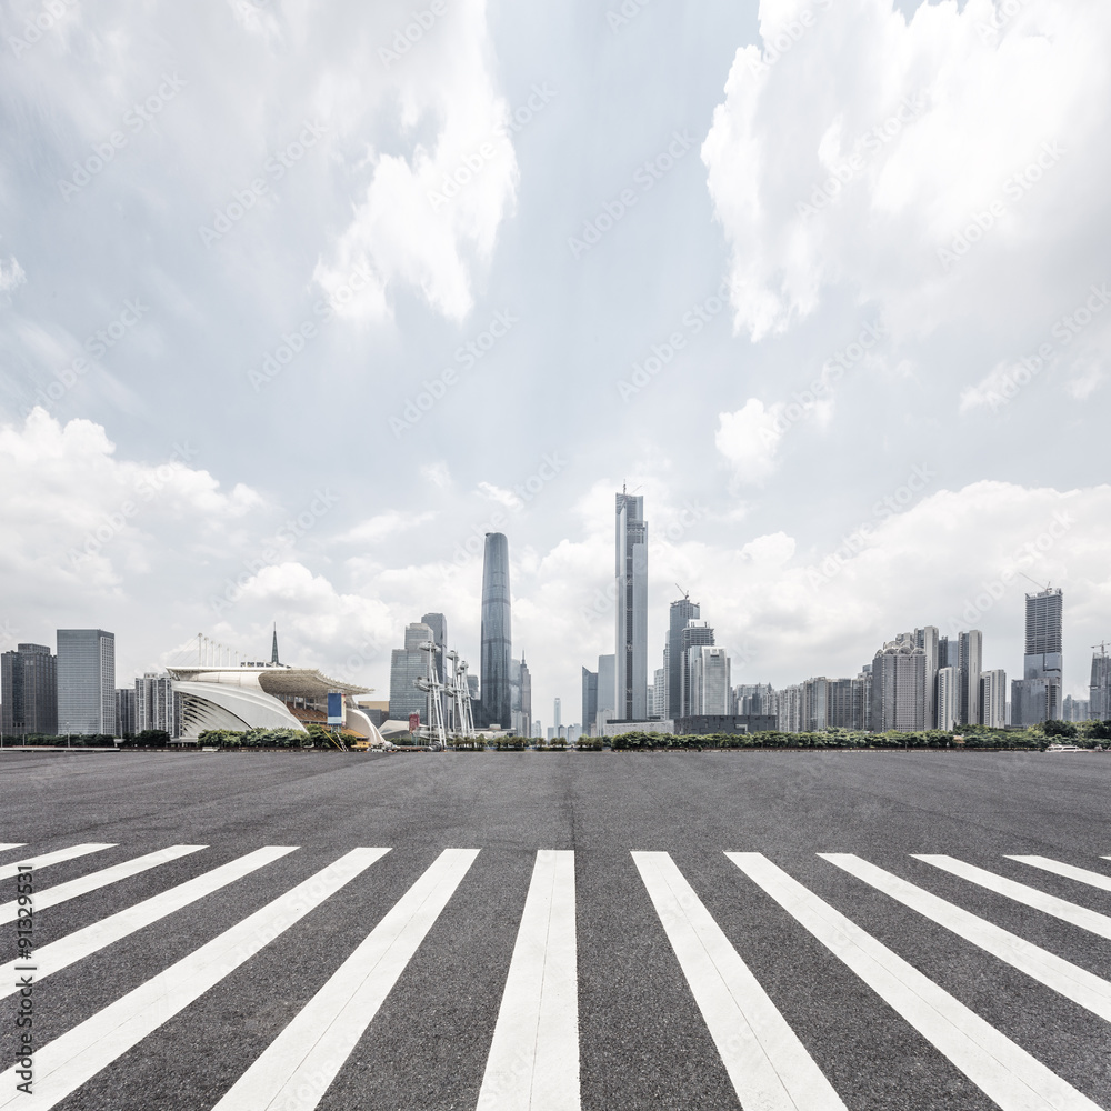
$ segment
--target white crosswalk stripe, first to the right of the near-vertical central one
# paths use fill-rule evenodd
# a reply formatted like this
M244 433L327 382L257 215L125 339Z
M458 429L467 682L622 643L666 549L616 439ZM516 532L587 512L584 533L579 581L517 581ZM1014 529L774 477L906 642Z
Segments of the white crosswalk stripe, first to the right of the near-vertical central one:
M665 852L632 859L743 1108L844 1104Z

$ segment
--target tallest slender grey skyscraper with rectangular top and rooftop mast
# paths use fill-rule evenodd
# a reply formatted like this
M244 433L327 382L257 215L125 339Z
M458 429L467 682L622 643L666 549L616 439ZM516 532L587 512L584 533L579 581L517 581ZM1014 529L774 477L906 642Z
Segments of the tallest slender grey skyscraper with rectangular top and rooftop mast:
M644 499L617 494L615 717L648 718L648 522Z

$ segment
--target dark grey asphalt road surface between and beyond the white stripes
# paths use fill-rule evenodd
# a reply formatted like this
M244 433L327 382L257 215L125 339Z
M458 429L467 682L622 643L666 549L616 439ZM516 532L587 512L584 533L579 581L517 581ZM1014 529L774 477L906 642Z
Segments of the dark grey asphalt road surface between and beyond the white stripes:
M742 1105L634 852L668 854L852 1111L997 1102L725 852L762 854L979 1015L1032 1067L1111 1108L1105 1017L817 855L855 854L1111 980L1111 933L910 855L955 858L1108 915L1097 929L1111 925L1111 891L1007 859L1044 857L1111 878L1111 860L1102 859L1111 855L1109 790L1111 753L6 752L0 841L26 848L0 852L0 874L28 855L114 844L37 868L40 900L57 884L140 854L207 847L37 910L40 953L263 845L298 847L37 981L39 1061L54 1039L77 1037L68 1032L94 1017L100 1022L104 1009L344 853L390 850L296 923L271 931L272 940L267 934L193 1001L160 1013L157 1028L109 1054L60 1102L47 1099L52 1081L39 1072L39 1094L20 1093L10 1105L213 1108L442 850L472 849L473 863L366 1032L357 1031L334 1079L276 1107L476 1108L537 853L571 850L583 1108ZM0 881L0 902L14 893L13 878ZM16 929L0 925L2 961L17 955ZM1104 990L1088 982L1097 994ZM1105 991L1111 1001L1111 984ZM0 1002L4 1069L14 1057L18 999ZM0 1108L11 1074L2 1082ZM558 1078L557 1087L565 1085L567 1077ZM491 1097L483 1105L509 1104ZM543 1105L541 1093L533 1107Z

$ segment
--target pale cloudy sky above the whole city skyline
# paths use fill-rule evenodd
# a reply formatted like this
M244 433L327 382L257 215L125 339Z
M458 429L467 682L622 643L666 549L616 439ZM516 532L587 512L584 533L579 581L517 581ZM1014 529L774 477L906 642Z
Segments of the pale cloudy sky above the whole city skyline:
M420 4L417 7L416 4ZM0 639L200 631L533 712L645 498L734 682L1064 589L1111 639L1107 0L0 0Z

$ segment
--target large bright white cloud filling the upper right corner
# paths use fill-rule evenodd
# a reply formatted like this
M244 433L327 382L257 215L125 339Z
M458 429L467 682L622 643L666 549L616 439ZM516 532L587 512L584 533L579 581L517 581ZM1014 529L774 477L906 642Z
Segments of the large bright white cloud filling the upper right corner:
M1022 320L1058 294L1060 260L1100 264L1102 0L1023 6L998 31L991 0L922 3L909 23L892 0L838 0L774 58L804 7L762 0L771 64L738 50L702 148L739 328L785 331L837 286L901 334Z

